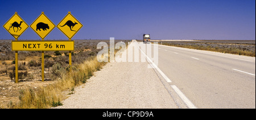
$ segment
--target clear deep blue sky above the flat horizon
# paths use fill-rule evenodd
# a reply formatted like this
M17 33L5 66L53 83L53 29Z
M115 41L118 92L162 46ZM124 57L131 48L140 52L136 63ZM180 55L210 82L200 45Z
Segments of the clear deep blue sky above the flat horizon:
M255 40L255 0L3 1L1 26L18 12L30 25L41 13L57 25L68 11L84 27L72 39ZM14 39L0 27L0 39ZM19 39L40 39L28 28ZM54 28L45 39L67 39Z

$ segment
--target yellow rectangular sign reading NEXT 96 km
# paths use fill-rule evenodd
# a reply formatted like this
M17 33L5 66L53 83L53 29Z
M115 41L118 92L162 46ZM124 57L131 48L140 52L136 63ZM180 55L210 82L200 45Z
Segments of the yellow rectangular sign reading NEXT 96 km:
M12 51L73 51L74 41L12 41Z

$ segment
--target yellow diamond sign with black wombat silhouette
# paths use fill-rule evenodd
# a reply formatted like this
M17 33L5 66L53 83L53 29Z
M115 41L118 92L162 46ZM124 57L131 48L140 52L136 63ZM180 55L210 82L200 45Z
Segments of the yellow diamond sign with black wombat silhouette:
M40 38L44 39L49 32L55 28L55 24L52 23L51 20L49 20L49 18L47 18L47 16L42 12L42 14L40 14L32 24L30 24L30 27L40 36Z

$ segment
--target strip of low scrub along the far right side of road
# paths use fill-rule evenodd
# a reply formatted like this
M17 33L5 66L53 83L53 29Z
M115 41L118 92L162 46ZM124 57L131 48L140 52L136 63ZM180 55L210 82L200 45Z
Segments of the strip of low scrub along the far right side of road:
M195 40L187 42L169 41L162 42L162 44L255 57L255 40Z

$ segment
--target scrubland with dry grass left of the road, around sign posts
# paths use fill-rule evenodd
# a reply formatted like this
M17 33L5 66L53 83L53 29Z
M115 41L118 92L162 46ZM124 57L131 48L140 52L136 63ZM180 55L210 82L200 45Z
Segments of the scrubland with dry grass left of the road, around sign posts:
M86 83L95 71L106 63L99 63L96 49L99 42L109 40L75 40L72 67L68 51L44 52L44 76L41 77L41 52L18 52L19 82L15 81L15 52L10 40L0 40L0 108L49 108L73 94L75 86ZM119 40L115 40L119 42ZM123 40L128 42L128 40ZM14 61L15 63L15 61Z

